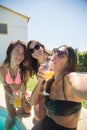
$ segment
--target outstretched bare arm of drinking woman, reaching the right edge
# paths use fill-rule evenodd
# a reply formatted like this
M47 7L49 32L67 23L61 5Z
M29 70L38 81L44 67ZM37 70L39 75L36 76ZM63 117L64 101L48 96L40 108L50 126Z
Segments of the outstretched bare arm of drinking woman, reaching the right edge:
M87 100L87 74L70 73L69 81L72 84L74 93Z

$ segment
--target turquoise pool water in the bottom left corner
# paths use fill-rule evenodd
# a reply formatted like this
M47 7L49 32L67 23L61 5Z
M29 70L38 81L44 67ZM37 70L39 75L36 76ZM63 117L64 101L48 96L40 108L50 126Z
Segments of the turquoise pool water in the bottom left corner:
M7 118L7 111L5 109L0 108L0 130L6 130L5 129L5 122ZM22 122L19 120L19 118L15 118L15 124L12 127L11 130L26 130L23 126Z

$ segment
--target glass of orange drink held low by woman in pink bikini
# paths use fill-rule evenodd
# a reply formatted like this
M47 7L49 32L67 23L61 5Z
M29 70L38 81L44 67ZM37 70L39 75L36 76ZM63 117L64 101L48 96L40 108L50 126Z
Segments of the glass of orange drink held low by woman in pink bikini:
M20 90L13 90L13 95L15 97L14 107L20 108L21 107L21 93Z

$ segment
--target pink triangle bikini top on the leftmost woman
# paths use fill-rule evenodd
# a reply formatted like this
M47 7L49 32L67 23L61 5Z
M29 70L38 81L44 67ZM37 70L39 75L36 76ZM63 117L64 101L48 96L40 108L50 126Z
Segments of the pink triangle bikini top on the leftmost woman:
M17 76L15 78L15 81L13 81L12 77L11 77L11 73L10 71L8 70L7 74L6 74L6 83L8 84L21 84L21 76L20 76L20 73L19 71L17 72Z

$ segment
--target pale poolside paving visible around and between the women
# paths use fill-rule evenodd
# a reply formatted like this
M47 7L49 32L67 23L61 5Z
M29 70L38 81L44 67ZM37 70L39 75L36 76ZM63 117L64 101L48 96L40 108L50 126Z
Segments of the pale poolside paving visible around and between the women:
M0 85L0 106L6 108L5 98L4 98L4 89L2 85ZM34 126L33 117L34 117L34 112L33 112L33 107L32 107L31 115L27 117L23 116L21 119L26 130L31 130L31 128ZM87 130L87 109L85 108L82 108L81 110L81 115L80 115L77 130Z

